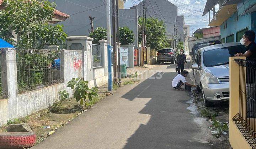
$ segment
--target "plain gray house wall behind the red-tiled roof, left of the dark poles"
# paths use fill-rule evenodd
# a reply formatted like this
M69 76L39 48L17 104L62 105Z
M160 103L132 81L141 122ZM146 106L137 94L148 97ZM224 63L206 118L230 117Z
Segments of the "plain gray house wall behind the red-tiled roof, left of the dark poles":
M106 4L102 0L49 0L57 4L57 9L70 15L66 21L60 22L68 36L85 35L89 36L88 29L91 30L89 16L95 17L94 28L106 28ZM111 0L112 4L112 0ZM102 6L101 6L102 5ZM98 6L98 7L97 7ZM97 8L95 8L97 7ZM95 8L95 9L93 9ZM92 10L89 10L92 9ZM82 12L84 11L84 12ZM81 12L81 13L79 13ZM75 14L77 13L77 14ZM112 14L112 5L111 5ZM119 9L119 27L128 27L134 32L133 45L138 46L138 17L137 10ZM112 24L112 17L111 17ZM111 27L112 29L112 27Z

